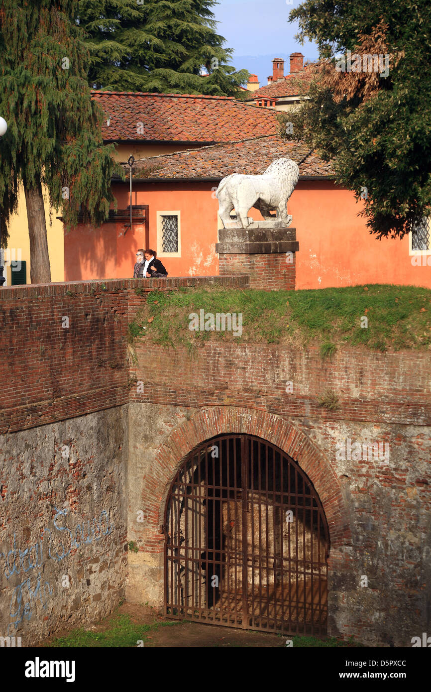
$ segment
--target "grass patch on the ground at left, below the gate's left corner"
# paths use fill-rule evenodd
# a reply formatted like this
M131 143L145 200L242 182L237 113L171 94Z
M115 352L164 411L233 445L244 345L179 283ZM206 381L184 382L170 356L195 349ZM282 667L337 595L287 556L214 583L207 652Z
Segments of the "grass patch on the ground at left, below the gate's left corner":
M101 647L130 647L137 646L137 641L148 638L149 632L154 632L158 627L167 627L179 624L178 622L158 622L151 625L140 625L131 622L129 615L117 615L111 618L107 629L103 632L92 632L79 628L72 630L66 637L59 637L48 644L59 648L101 648Z

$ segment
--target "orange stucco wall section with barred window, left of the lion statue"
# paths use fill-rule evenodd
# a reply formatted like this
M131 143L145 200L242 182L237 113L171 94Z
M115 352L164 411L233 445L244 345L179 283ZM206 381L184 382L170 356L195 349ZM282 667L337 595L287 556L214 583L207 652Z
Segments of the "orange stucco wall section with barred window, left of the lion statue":
M215 186L215 183L214 185ZM217 199L211 183L134 183L133 203L149 206L149 244L170 276L210 276L219 273ZM129 205L127 185L113 185L118 208ZM157 212L181 212L181 257L163 257L157 246ZM134 224L132 233L120 223L102 228L80 225L64 236L64 280L123 278L133 275L136 249L145 247L145 228Z

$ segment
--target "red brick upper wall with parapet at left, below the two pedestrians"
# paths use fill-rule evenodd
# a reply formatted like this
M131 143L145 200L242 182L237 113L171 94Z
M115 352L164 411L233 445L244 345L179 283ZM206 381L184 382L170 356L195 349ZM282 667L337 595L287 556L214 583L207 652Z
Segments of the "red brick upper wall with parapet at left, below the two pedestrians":
M127 325L149 291L246 286L247 280L179 277L1 289L0 432L127 403Z

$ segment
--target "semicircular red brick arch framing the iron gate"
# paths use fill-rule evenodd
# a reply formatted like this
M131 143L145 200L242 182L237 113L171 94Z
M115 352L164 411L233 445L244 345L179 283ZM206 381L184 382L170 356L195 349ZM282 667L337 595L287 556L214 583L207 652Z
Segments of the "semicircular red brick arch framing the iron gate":
M318 447L290 422L261 410L235 406L203 408L176 428L159 449L145 477L143 497L147 507L147 540L161 543L161 525L169 488L179 466L197 445L223 433L255 435L271 442L294 459L313 483L329 525L331 555L351 543L351 529L340 482Z

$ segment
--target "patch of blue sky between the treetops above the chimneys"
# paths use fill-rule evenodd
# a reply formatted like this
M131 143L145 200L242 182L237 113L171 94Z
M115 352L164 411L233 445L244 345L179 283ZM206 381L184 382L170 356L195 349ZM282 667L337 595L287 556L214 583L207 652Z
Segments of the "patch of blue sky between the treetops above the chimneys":
M284 58L284 74L289 72L290 53L303 53L305 60L318 57L316 46L295 41L297 23L290 24L290 10L299 0L220 0L212 8L219 22L217 33L226 38L226 48L233 48L232 64L256 74L260 86L272 74L274 57Z

